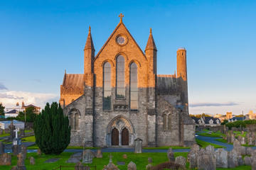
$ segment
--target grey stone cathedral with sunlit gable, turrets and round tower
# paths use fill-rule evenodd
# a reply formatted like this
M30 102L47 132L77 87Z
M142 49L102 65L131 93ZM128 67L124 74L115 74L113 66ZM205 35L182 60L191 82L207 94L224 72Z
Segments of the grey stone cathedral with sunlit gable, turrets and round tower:
M157 74L151 29L143 52L119 17L97 55L89 28L83 74L64 74L60 105L70 145L133 147L138 138L144 147L193 145L185 48L177 50L176 73Z

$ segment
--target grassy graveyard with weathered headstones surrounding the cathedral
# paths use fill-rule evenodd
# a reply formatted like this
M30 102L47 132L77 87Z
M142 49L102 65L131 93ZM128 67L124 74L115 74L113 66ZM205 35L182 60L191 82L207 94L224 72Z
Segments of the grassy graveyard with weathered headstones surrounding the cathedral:
M0 142L0 169L255 169L253 130L254 126L202 130L191 147L142 147L137 140L134 148L67 147L55 155L41 152L33 130L19 130L11 124L1 132L1 138L9 142Z

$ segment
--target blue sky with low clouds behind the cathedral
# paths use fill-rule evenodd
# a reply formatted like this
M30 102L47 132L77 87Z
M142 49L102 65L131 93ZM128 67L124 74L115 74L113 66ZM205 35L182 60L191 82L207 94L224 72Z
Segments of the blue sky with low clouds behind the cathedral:
M190 113L256 112L256 1L1 1L0 102L57 101L64 69L82 73L88 27L96 53L123 22L158 73L186 47Z

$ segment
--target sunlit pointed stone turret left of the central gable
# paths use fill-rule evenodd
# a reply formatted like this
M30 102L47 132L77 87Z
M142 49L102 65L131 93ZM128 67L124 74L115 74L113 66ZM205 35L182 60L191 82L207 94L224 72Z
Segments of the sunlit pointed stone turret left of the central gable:
M89 33L87 36L87 40L85 43L85 49L84 49L84 57L85 57L85 65L84 65L84 73L92 73L93 72L93 60L95 57L95 48L92 42L92 34L91 34L91 28L89 26Z

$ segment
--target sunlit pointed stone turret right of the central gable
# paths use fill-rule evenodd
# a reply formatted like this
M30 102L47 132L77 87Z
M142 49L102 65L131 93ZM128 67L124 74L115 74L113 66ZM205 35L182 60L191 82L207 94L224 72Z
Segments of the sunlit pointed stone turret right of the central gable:
M146 43L145 55L149 61L149 74L156 74L156 44L152 35L152 29L150 28L149 40Z

